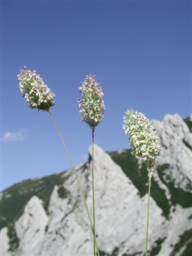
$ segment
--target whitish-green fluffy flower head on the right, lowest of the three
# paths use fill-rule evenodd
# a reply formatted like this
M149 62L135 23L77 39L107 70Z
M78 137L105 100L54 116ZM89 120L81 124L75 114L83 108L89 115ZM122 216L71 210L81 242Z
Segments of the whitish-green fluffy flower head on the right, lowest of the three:
M141 158L148 169L153 168L160 148L158 137L150 121L143 113L135 110L127 110L123 117L123 129L129 137L132 154Z

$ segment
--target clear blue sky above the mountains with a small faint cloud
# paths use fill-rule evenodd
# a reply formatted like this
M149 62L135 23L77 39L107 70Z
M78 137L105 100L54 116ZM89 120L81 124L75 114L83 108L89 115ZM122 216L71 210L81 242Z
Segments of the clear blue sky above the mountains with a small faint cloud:
M53 114L77 164L91 143L77 106L89 73L104 91L96 129L104 150L128 148L127 108L158 119L191 112L191 1L7 0L1 12L2 188L70 166L47 113L29 109L20 94L23 65L55 93Z

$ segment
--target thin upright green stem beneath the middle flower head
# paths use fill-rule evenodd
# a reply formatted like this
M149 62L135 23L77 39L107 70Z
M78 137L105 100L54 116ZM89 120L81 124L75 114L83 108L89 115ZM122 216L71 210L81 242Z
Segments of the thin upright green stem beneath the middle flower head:
M95 192L94 192L94 128L92 129L92 198L93 198L93 255L96 256L96 209L95 209Z

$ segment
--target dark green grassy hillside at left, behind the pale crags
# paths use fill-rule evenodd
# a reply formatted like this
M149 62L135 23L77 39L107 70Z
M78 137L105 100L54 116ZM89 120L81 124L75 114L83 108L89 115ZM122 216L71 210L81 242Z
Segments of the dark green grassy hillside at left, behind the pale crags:
M61 172L43 178L28 179L3 191L0 200L0 229L2 227L8 227L11 250L14 250L19 243L14 228L15 221L23 214L24 207L26 203L28 203L28 200L30 200L33 195L37 195L37 197L42 199L45 211L47 211L53 187L55 185L61 187L68 176L68 172ZM64 191L62 192L64 193Z

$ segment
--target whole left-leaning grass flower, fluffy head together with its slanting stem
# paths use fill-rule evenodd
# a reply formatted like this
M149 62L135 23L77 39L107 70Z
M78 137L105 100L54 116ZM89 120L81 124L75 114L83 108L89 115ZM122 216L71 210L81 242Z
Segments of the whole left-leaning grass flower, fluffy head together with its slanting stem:
M74 176L77 180L77 184L80 188L80 193L85 206L85 211L88 214L88 220L90 223L91 232L93 233L93 224L91 220L91 214L90 214L90 211L88 210L88 205L86 203L85 192L82 189L80 178L77 175L77 170L74 167L74 162L69 152L68 146L66 146L64 136L62 135L61 129L59 129L58 123L50 109L55 104L54 102L55 94L53 94L53 92L47 87L47 85L44 83L42 78L40 78L40 76L37 75L35 71L28 70L26 69L26 67L23 67L23 69L20 70L20 73L18 74L18 80L19 80L20 92L23 94L23 97L26 98L26 102L28 102L28 104L30 105L30 108L45 110L47 111L48 115L51 118L53 127L55 128L55 132L57 132L58 137L61 140L62 146L64 147L64 151L66 152L66 156L68 157L69 162L72 165L72 172L74 173ZM96 250L99 256L99 247L96 243L96 238L95 238L95 244L96 244Z

